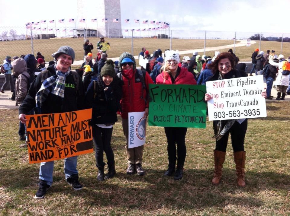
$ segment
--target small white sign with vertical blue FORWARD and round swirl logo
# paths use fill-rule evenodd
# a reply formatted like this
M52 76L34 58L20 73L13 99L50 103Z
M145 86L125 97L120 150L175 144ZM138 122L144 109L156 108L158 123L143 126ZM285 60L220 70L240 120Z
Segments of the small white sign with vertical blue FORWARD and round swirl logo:
M128 148L144 145L146 142L145 112L128 113Z

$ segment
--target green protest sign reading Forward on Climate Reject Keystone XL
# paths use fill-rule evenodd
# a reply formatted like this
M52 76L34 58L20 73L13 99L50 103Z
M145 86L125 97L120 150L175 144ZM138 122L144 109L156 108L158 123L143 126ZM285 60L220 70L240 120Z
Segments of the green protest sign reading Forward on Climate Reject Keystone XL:
M149 125L205 128L205 85L149 84L149 93Z

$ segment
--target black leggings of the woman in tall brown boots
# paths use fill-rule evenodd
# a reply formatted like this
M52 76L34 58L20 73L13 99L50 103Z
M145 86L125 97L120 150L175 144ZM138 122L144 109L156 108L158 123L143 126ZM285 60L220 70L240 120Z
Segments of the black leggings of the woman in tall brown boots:
M227 133L219 141L215 141L215 150L224 152L226 151L227 141L230 134L234 152L244 151L244 140L247 132L247 127L248 119L245 119L241 124L236 121L230 128L230 130L228 130Z

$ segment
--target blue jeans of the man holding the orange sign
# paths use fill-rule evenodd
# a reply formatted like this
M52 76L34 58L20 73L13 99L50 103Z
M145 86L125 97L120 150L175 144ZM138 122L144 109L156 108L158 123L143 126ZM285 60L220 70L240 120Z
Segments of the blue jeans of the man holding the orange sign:
M78 161L78 156L67 157L64 159L64 174L66 179L72 174L78 174L76 169ZM42 162L39 168L39 179L42 179L47 182L48 185L53 183L53 165L54 161Z

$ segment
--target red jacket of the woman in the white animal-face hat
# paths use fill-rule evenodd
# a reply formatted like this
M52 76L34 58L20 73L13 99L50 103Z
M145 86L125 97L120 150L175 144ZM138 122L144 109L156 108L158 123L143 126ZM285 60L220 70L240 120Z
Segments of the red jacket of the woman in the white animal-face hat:
M174 83L172 83L169 75L166 75L165 82L164 81L164 73L161 73L156 77L156 84L189 84L196 85L195 78L191 72L187 70L187 68L180 68L180 73L176 77Z

